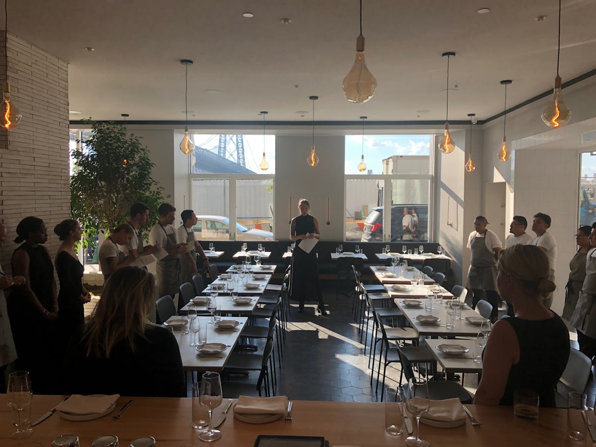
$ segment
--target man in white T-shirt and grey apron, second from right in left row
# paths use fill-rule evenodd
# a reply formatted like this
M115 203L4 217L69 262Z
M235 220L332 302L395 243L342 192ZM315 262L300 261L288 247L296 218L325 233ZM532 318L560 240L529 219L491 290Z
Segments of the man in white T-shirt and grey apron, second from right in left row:
M186 251L186 243L178 240L176 228L172 225L176 220L176 209L169 203L162 203L157 209L159 221L151 228L149 242L159 245L167 252L167 256L157 261L157 293L159 296L178 293L180 285L180 260L178 254Z

